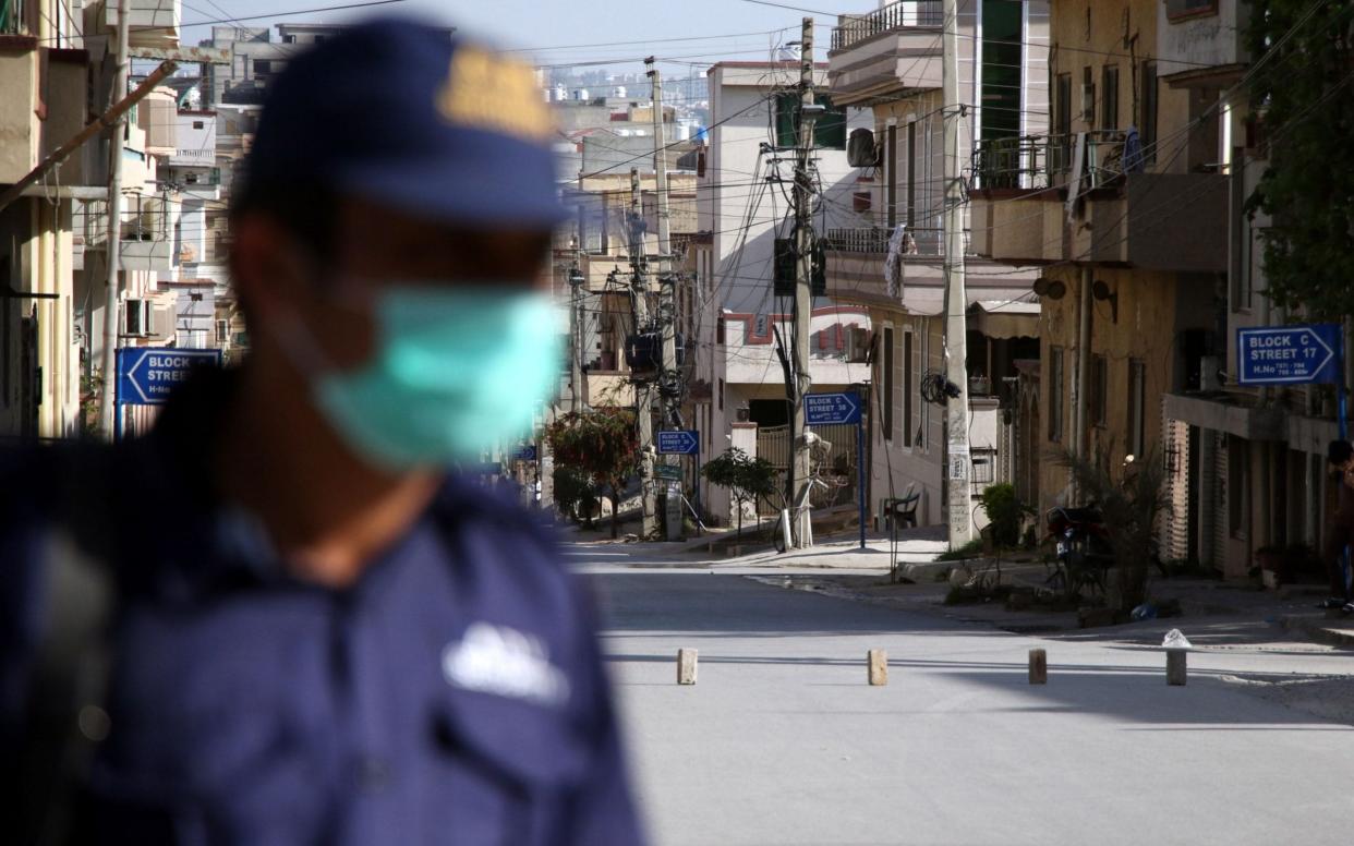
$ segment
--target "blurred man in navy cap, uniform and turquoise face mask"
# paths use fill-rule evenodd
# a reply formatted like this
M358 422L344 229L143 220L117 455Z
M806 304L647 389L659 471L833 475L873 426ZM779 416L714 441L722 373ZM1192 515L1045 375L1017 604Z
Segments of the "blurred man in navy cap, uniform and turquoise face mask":
M445 470L559 379L551 138L528 68L418 23L278 77L242 367L0 466L0 841L640 842L588 597Z

